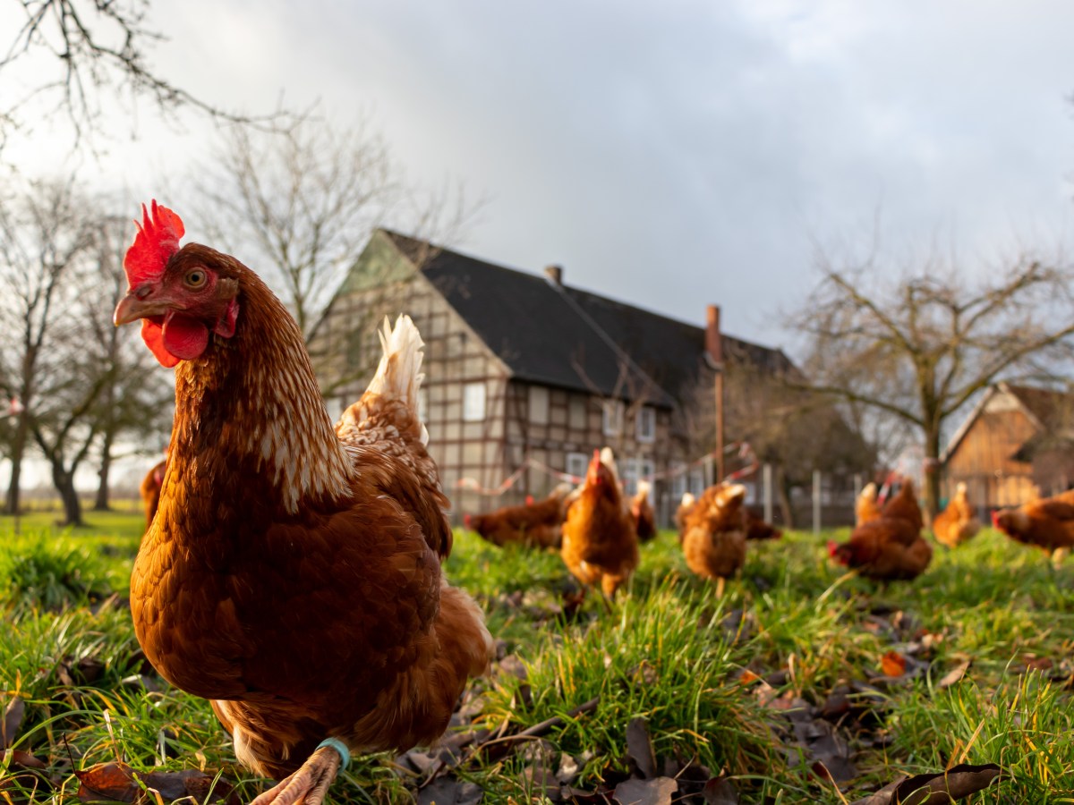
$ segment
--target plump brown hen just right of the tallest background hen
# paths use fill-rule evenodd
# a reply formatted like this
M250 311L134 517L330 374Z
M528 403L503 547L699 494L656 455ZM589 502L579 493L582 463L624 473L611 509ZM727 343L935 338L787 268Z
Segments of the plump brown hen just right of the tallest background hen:
M702 493L684 517L686 566L700 576L715 579L717 596L745 561L744 500L742 484L716 484Z

